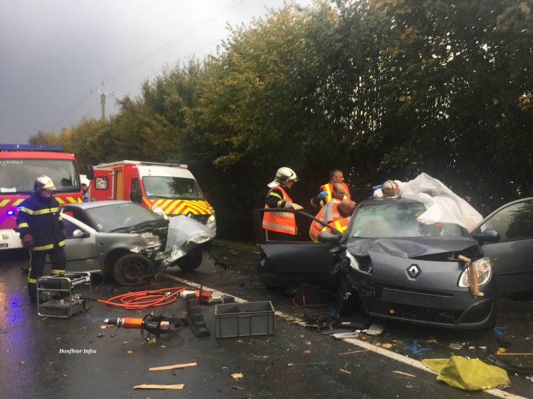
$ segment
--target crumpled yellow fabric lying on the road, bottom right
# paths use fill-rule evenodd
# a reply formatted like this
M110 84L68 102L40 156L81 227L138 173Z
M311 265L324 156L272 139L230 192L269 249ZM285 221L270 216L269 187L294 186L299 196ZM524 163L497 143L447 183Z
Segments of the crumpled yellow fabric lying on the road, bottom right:
M479 359L451 356L450 359L424 359L422 362L439 373L437 380L466 391L493 389L511 384L507 371Z

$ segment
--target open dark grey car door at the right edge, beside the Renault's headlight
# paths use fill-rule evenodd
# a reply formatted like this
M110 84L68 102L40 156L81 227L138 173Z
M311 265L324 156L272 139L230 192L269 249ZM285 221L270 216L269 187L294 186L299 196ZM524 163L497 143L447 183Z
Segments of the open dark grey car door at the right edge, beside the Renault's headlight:
M493 262L499 292L533 290L533 198L519 199L496 209L474 232L495 229L498 242L485 242Z

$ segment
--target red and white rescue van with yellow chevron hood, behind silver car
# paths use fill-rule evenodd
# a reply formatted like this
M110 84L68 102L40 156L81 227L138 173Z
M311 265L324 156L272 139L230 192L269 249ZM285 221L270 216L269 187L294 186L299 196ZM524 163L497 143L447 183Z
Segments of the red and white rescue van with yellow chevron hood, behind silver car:
M90 200L126 199L168 216L187 215L217 231L214 210L187 165L117 161L94 166Z

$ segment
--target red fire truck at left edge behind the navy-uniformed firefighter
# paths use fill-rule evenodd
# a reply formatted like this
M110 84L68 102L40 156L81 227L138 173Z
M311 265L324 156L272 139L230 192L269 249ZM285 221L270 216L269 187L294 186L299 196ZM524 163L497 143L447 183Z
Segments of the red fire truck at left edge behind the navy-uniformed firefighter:
M17 206L33 192L39 175L49 176L60 204L81 202L82 191L74 154L60 145L0 144L0 249L21 248Z

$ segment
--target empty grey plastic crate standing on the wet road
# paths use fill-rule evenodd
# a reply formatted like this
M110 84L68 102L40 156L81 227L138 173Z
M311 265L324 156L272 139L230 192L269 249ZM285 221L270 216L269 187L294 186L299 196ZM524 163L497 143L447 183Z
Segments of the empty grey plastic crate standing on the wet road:
M216 338L273 333L274 308L271 301L223 303L214 307L214 336Z

